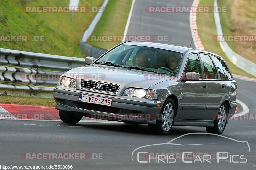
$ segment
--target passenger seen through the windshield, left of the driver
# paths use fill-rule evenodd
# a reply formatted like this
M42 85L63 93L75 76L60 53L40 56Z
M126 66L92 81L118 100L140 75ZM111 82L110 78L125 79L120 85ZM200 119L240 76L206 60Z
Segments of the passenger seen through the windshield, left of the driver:
M149 57L148 57L148 53L143 49L140 49L137 51L136 55L135 55L135 61L136 61L136 65L137 67L147 67L150 68L150 63L149 63Z

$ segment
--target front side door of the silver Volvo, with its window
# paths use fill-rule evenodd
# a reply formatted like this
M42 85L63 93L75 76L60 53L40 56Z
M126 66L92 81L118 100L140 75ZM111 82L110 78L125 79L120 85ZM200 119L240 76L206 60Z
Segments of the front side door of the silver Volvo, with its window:
M182 97L180 100L179 121L201 120L206 109L207 84L202 79L202 66L197 53L189 55L184 72L200 74L199 81L183 81Z

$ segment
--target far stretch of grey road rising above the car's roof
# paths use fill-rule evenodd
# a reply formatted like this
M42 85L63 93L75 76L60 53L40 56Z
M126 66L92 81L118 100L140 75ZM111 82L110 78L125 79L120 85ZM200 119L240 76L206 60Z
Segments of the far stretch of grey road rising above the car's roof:
M192 35L189 25L190 13L149 13L147 6L191 6L193 0L136 0L127 35L168 36L168 41L157 43L189 46ZM191 45L195 48L194 44Z

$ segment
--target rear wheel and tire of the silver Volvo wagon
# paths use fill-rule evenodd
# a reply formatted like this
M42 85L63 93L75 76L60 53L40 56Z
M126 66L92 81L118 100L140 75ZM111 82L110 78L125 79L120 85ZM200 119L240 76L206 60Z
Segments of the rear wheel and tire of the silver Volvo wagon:
M220 106L220 110L218 112L217 117L215 118L213 124L213 127L206 127L206 131L208 133L214 133L214 134L222 134L225 130L226 124L227 124L227 115L228 115L228 106L226 103L223 103Z

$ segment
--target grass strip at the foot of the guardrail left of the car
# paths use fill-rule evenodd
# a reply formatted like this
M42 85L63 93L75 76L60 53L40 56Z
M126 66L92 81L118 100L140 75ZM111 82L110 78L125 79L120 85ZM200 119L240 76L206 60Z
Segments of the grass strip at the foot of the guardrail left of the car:
M23 104L32 106L52 106L55 107L54 99L33 98L33 97L15 97L15 96L0 96L1 104Z

